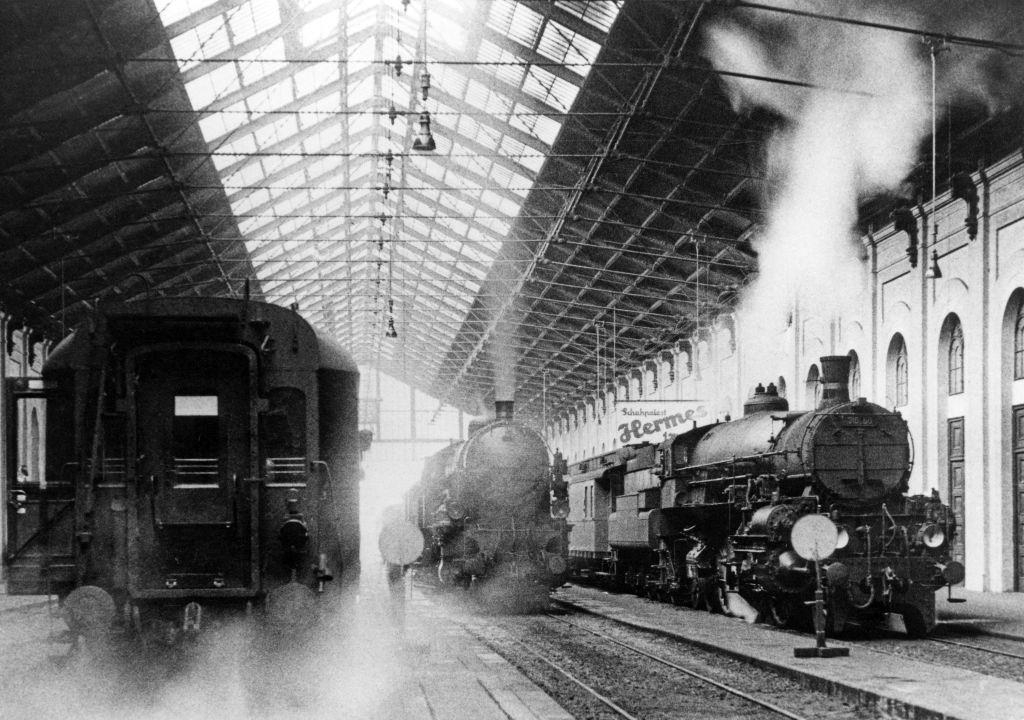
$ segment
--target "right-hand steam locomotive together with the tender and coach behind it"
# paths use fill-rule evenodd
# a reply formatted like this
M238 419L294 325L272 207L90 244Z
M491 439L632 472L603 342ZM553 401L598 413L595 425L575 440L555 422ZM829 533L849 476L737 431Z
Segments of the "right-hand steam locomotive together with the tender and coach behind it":
M573 573L718 612L735 595L769 622L806 627L815 571L791 530L815 513L838 535L822 563L827 629L896 613L907 634L930 632L935 592L964 580L953 513L935 494L906 495L912 447L899 414L850 400L848 357L821 366L814 411L790 412L759 385L741 419L573 465Z

